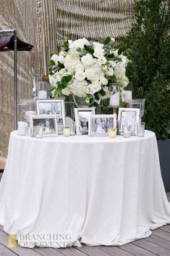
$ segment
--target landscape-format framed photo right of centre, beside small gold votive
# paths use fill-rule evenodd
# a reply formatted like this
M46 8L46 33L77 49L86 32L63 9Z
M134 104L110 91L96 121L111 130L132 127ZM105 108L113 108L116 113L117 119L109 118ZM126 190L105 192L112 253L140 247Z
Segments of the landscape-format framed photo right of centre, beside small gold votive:
M91 115L88 136L108 136L108 128L114 127L115 115Z

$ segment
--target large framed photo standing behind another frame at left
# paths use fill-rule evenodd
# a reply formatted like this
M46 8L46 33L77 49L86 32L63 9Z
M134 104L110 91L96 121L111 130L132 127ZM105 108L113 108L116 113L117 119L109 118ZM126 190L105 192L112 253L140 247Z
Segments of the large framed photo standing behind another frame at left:
M65 109L63 99L38 99L38 115L56 115L58 132L62 133L62 126L65 125Z

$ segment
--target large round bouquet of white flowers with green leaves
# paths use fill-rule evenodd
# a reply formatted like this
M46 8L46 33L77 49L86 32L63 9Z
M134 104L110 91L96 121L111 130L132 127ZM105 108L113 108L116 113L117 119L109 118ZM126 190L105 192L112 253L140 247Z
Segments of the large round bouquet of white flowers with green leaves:
M48 61L51 95L59 98L72 94L97 106L101 99L109 98L110 91L122 92L127 86L127 62L121 50L115 49L114 38L64 41L59 54L52 54Z

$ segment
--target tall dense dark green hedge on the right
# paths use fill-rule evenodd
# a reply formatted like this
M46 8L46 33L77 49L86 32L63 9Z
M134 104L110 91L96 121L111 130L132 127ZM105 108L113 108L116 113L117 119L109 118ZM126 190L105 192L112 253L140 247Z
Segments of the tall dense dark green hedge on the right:
M122 39L130 59L133 98L145 98L146 128L170 138L170 0L135 1L132 29ZM120 50L119 50L120 51Z

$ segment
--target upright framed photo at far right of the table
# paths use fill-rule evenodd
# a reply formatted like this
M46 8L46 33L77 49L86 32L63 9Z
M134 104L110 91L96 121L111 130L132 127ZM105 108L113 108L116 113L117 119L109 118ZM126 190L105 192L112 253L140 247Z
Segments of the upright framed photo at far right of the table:
M140 118L140 109L120 107L118 112L119 134L123 133L122 125L132 125L132 135L137 134L137 123Z

